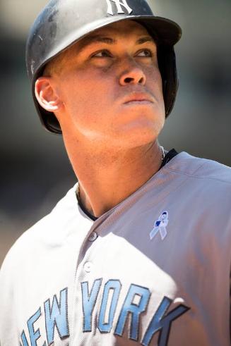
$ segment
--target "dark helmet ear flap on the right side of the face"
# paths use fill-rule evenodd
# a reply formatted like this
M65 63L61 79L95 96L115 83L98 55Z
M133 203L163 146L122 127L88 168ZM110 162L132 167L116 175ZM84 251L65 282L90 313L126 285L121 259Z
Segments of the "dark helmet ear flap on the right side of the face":
M162 91L165 101L165 116L170 115L177 96L178 77L174 48L158 45L158 65L162 77Z

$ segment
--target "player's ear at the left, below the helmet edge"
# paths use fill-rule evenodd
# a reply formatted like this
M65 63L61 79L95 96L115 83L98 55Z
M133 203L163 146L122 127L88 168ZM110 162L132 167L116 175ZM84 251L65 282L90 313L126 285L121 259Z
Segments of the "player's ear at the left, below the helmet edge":
M35 96L42 108L57 112L63 105L52 85L51 77L40 77L35 82Z

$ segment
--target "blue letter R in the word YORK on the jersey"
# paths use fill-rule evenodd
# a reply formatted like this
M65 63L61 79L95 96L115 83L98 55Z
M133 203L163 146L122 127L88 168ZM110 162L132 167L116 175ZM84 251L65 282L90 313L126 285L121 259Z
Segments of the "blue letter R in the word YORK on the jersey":
M135 297L140 298L138 304L134 303ZM117 328L115 330L115 335L122 336L124 333L126 319L129 314L131 314L131 326L129 332L129 338L131 340L138 340L138 330L139 330L139 320L141 313L146 310L148 300L150 298L150 291L148 288L143 288L138 285L131 285L129 292L124 301L122 311L119 315L119 320L117 322Z

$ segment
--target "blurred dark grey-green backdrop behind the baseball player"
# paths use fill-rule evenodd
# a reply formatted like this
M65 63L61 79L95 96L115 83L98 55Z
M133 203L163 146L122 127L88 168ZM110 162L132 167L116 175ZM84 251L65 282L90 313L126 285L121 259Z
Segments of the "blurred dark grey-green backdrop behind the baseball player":
M150 0L182 26L179 94L160 142L231 166L231 1ZM0 0L0 265L17 237L76 178L62 138L40 125L25 70L25 40L45 0Z

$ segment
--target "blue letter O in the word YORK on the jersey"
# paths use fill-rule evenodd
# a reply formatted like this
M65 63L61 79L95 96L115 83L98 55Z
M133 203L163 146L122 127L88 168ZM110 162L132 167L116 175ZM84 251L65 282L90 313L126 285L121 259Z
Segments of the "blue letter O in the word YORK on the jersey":
M122 285L119 282L119 280L109 280L105 285L105 290L103 292L102 303L100 307L99 323L98 323L98 328L101 333L110 333L110 331L112 330L112 323L113 323L115 311L117 309L117 303L118 303L121 287ZM108 323L105 323L105 313L106 313L108 299L109 299L109 292L111 290L113 290L113 295L112 295L112 302L109 307L109 319L108 319Z

